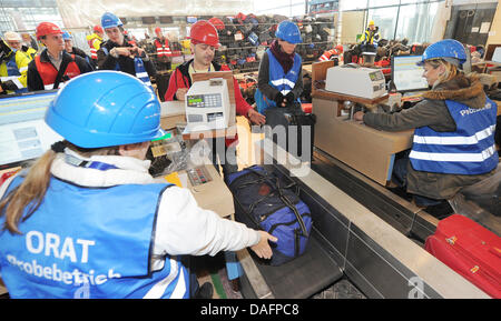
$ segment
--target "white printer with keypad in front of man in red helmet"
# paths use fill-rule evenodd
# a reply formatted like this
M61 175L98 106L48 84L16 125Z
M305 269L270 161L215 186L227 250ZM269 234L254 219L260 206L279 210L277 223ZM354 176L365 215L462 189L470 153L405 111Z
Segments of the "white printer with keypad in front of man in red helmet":
M190 131L226 129L229 123L229 94L226 80L196 81L185 97L186 121Z

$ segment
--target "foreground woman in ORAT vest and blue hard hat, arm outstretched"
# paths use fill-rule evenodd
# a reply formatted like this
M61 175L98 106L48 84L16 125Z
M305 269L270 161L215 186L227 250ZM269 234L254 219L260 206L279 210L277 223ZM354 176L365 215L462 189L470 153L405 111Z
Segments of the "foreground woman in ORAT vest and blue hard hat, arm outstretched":
M0 187L0 275L11 298L188 298L181 255L250 247L271 257L274 237L149 175L160 104L137 78L77 77L46 122L65 141Z

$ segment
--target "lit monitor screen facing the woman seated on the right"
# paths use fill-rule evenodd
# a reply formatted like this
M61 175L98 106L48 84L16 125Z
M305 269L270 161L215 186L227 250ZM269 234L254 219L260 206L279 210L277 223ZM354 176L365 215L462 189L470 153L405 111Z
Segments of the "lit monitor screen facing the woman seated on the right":
M423 67L416 66L421 56L394 56L392 57L392 80L396 91L415 91L428 89L428 82L423 78Z

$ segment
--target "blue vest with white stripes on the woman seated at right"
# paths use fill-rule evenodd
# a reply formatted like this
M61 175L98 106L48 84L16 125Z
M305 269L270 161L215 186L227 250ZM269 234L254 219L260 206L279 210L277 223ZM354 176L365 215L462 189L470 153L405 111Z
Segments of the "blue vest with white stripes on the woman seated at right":
M487 99L484 108L472 109L445 100L455 121L454 132L438 132L430 127L414 131L410 160L416 171L448 174L483 174L498 165L494 146L495 103Z

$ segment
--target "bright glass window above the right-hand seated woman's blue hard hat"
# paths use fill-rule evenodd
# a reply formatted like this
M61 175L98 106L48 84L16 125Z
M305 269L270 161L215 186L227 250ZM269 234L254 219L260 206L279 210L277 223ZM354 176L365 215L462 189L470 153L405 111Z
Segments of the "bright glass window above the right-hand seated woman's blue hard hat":
M430 39L439 2L402 6L395 39L407 38L410 43Z

